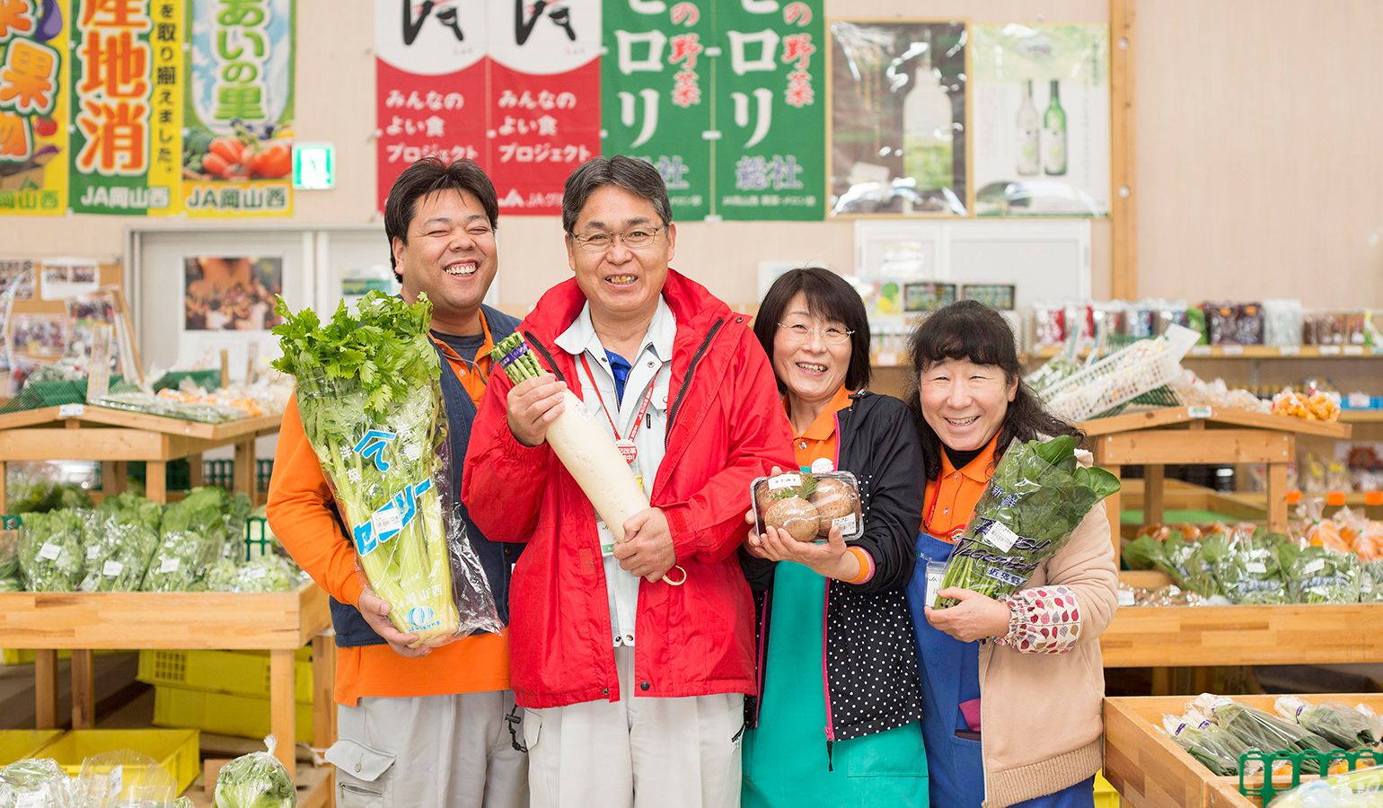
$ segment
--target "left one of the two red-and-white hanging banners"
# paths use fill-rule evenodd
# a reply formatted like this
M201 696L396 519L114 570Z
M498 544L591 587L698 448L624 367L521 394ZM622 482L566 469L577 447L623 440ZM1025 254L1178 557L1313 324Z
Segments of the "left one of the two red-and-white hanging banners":
M378 210L409 165L485 152L485 0L375 0Z

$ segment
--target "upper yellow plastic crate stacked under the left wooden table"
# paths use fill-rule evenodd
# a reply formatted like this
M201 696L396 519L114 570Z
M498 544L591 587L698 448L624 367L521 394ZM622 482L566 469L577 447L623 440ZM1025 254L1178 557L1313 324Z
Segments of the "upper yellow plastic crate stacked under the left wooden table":
M311 649L299 649L293 663L293 700L313 703ZM141 650L141 682L154 686L205 690L268 699L268 652L254 650Z

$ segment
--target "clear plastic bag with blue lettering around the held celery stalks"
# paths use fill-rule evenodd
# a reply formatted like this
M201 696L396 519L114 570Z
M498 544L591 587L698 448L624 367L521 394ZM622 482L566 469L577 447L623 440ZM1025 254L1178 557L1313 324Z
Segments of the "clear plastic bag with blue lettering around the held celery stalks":
M382 421L368 414L369 396L358 379L297 376L304 430L365 578L394 627L418 635L415 648L498 632L490 582L452 501L440 383L412 387Z

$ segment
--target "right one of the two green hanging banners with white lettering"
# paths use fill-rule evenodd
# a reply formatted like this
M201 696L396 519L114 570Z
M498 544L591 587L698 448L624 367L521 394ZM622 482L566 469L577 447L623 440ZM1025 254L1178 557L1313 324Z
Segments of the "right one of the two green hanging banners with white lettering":
M822 0L716 7L715 213L727 220L826 214Z

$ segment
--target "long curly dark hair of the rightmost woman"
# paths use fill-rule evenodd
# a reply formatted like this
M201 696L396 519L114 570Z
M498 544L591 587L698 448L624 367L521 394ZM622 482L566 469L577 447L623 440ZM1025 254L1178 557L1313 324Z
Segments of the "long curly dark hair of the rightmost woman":
M1023 368L1018 362L1018 349L1014 346L1014 332L1008 321L978 300L958 300L934 311L913 331L909 351L911 376L907 407L913 411L917 432L922 437L928 480L935 480L940 473L942 441L922 418L917 382L924 371L940 361L969 360L976 365L997 367L1008 383L1018 382L1018 393L1008 404L1004 425L999 429L996 461L1014 439L1037 440L1061 434L1075 436L1076 440L1086 437L1083 432L1048 412L1041 400L1028 389L1022 380Z

